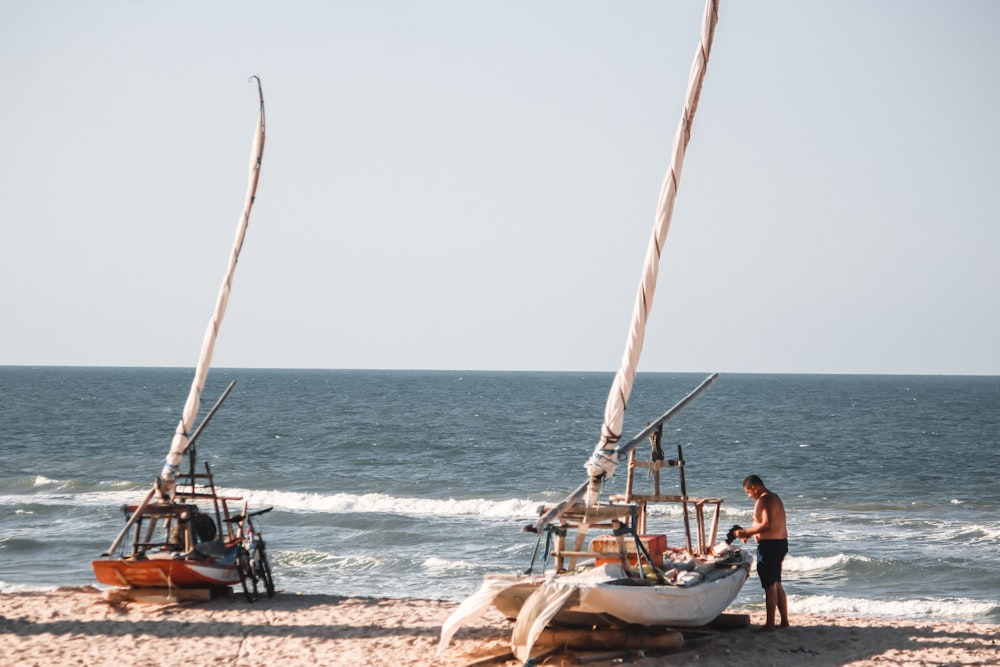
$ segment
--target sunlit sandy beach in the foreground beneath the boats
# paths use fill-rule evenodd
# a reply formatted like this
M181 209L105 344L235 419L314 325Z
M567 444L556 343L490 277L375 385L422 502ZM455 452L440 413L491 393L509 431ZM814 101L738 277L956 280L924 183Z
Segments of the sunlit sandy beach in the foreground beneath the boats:
M295 595L248 603L109 603L85 586L0 594L0 665L519 665L509 653L511 623L495 611L459 630L436 654L455 602ZM793 610L794 612L794 610ZM752 623L762 619L754 614ZM1000 626L792 614L793 627L753 627L691 636L681 649L603 654L553 653L549 665L996 665ZM609 647L608 651L612 651ZM503 655L505 654L505 655ZM494 657L500 656L500 657Z

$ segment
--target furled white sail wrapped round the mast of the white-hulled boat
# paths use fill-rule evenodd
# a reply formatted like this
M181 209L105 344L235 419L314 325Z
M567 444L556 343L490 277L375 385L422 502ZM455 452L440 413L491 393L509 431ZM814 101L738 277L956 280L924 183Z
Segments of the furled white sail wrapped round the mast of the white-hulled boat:
M660 189L660 200L656 209L656 224L646 251L646 261L642 270L642 280L632 311L632 326L629 329L625 343L625 353L621 366L615 375L604 408L604 424L601 427L601 438L587 462L587 473L591 478L608 479L615 473L619 463L615 445L621 439L622 425L625 419L625 407L632 393L632 382L635 379L639 355L642 353L643 339L646 335L646 322L653 309L653 296L656 293L656 279L660 270L660 254L670 231L670 220L674 213L674 200L680 185L681 169L684 164L684 154L688 141L691 139L691 125L695 111L698 109L698 99L701 96L701 86L708 67L708 58L712 51L712 39L715 36L715 25L719 17L718 0L707 0L705 14L701 25L701 41L695 52L691 75L688 79L687 99L684 103L684 113L674 136L673 155L670 169L663 179Z

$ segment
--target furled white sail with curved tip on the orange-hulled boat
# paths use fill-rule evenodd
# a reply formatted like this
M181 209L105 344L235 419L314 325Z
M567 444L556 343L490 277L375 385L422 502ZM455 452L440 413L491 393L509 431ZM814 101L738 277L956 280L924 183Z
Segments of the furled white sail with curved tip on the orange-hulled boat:
M212 318L208 322L205 336L201 343L201 355L198 357L198 365L195 367L194 380L191 382L191 390L188 393L187 402L184 404L184 411L181 413L181 420L177 424L173 440L170 443L170 451L167 453L163 470L160 473L161 491L172 493L174 480L180 470L190 442L191 429L194 428L194 420L198 416L198 408L201 405L201 392L205 388L205 380L208 377L208 369L212 363L212 353L215 350L215 341L219 335L219 327L222 325L222 318L226 314L226 306L229 303L229 294L233 287L233 274L236 272L236 264L239 261L240 251L243 248L243 239L246 237L247 227L250 223L250 209L253 208L254 199L257 194L257 181L260 178L260 165L264 157L264 91L261 88L260 79L253 77L257 81L257 94L260 98L260 113L257 116L257 127L254 131L253 147L250 152L250 178L247 185L246 199L243 204L243 214L240 216L239 224L236 228L236 240L233 242L233 249L229 255L229 266L226 275L222 279L222 286L219 288L219 296L215 303L215 310Z

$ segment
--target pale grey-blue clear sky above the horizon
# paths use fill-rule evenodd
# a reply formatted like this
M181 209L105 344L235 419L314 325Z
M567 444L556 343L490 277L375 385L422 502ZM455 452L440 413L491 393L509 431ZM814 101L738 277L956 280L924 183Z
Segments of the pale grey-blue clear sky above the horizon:
M701 0L0 0L0 365L614 371ZM1000 3L723 0L641 371L1000 374Z

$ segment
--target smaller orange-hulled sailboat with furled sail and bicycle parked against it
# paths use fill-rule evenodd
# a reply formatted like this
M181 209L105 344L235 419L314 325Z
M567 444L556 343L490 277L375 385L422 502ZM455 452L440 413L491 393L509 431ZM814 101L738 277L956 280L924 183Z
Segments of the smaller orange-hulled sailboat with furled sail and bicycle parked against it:
M202 339L194 379L163 470L141 502L123 508L125 526L108 550L91 561L97 580L103 584L133 589L213 589L242 583L244 593L252 600L256 599L260 582L269 596L274 595L264 541L252 523L253 516L267 510L248 512L242 498L216 493L208 465L204 472L196 469L193 446L235 384L229 385L195 428L264 156L264 93L260 79L253 79L257 81L260 110L250 153L243 213L236 228L229 264ZM185 458L190 466L187 472L181 470ZM239 507L231 507L237 503Z

